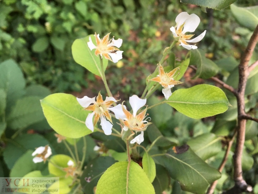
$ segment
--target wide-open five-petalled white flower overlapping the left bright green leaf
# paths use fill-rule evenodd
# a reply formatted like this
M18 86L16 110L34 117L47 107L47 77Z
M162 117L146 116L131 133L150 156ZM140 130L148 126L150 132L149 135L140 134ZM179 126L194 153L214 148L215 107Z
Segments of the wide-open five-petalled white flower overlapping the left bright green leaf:
M109 111L114 112L116 119L124 119L125 115L122 110L122 105L118 104L117 106L112 107L111 105L114 102L117 102L114 97L106 97L103 100L102 95L98 94L96 101L95 97L89 98L84 96L83 98L77 98L79 104L84 107L85 110L93 111L89 113L85 124L87 128L89 128L92 132L94 131L94 126L97 124L98 120L101 120L101 127L106 135L110 135L112 133L112 119ZM93 104L93 105L90 105ZM94 121L93 120L94 116ZM107 121L108 120L108 121ZM111 123L110 123L111 122Z

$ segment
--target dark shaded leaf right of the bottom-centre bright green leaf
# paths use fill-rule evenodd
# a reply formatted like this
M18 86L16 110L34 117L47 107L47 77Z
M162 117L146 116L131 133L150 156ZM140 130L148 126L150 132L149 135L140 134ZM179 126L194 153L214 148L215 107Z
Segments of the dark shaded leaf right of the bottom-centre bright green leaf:
M156 164L156 177L152 182L155 189L155 194L163 194L163 191L168 188L170 184L170 176L166 170L161 165ZM174 187L173 187L174 190Z

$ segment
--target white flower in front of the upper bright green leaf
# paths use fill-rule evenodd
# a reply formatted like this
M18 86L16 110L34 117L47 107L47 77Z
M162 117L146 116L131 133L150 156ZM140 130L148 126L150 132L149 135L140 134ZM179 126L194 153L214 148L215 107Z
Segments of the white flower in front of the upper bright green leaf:
M99 34L96 34L95 32L94 36L96 38L97 46L93 44L91 37L89 37L89 42L87 42L87 44L90 50L96 49L96 56L100 54L101 58L104 56L106 59L117 63L120 59L122 59L122 53L124 52L118 49L121 47L123 40L121 38L115 40L114 37L109 40L109 35L110 33L100 39Z

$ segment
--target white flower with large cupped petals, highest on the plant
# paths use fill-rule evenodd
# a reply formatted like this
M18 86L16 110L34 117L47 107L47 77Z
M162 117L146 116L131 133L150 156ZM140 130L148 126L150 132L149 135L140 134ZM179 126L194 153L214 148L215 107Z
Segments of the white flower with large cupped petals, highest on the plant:
M194 34L186 35L186 32L194 32L196 28L199 26L200 18L196 14L187 14L187 12L181 12L176 17L176 26L172 26L170 28L171 32L174 35L174 38L180 36L180 45L184 48L190 50L190 49L196 49L197 46L195 45L188 45L187 42L195 43L202 40L202 38L205 36L206 30L202 32L199 36L196 38L193 38Z

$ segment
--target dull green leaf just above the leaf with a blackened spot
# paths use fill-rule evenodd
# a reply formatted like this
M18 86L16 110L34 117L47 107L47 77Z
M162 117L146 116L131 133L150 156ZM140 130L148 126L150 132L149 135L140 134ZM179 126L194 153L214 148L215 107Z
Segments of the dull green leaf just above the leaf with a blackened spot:
M206 160L221 151L221 139L213 133L206 133L188 140L187 144L197 156Z

